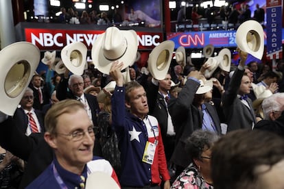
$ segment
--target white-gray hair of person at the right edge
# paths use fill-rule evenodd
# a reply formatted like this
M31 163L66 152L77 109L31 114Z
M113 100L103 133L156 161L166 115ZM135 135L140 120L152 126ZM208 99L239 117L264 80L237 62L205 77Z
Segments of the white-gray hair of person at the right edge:
M270 119L269 114L272 111L281 111L284 106L284 92L278 92L265 98L262 102L262 109L265 119Z

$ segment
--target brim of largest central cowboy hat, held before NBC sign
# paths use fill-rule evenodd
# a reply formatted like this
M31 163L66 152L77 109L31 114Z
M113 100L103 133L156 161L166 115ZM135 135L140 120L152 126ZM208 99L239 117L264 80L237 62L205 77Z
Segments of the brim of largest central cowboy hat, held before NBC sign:
M123 67L121 70L126 67L132 65L137 58L137 49L138 49L138 41L137 41L137 33L130 30L119 30L121 34L126 38L127 49L123 53L123 55L115 60L109 60L104 56L104 49L102 48L102 44L104 41L104 34L99 34L97 39L95 40L92 48L92 60L95 64L95 67L102 73L108 74L110 73L111 62L118 60L119 62L123 62Z

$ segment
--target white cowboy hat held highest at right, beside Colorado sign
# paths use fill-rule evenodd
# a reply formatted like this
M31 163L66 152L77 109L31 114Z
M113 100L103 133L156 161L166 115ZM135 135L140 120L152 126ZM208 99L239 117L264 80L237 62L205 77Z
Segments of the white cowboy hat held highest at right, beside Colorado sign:
M237 47L261 60L264 50L264 34L261 24L257 21L242 23L236 32Z

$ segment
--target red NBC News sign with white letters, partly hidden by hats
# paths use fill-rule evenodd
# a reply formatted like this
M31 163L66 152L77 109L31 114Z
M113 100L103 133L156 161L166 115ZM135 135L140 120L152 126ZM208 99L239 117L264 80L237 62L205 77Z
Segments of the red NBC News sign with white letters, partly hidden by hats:
M25 40L40 50L61 50L71 42L83 42L91 50L93 43L104 30L25 29ZM137 31L139 49L153 49L163 42L162 33Z

